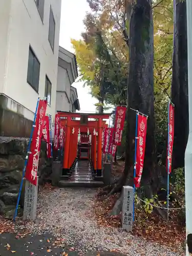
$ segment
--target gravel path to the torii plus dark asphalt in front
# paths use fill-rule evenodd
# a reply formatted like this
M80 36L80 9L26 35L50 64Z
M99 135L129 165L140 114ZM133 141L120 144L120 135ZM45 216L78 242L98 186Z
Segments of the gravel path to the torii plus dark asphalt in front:
M19 232L27 229L32 235L16 239L14 234L0 234L1 256L184 255L121 228L98 225L94 218L96 194L97 190L86 188L39 191L36 221L21 223L15 229ZM55 241L58 247L54 247Z

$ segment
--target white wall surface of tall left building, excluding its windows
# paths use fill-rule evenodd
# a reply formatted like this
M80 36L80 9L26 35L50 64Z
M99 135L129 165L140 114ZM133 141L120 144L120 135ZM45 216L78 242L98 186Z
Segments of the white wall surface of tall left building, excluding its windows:
M0 31L1 33L3 31L0 39L0 93L5 93L27 108L29 112L26 111L24 117L31 119L30 111L35 111L37 98L44 97L47 74L52 83L51 106L48 106L47 112L54 117L61 0L45 0L43 23L34 0L2 1L0 3ZM54 53L48 40L50 5L55 19ZM30 45L40 62L38 93L27 82ZM2 52L6 52L6 56ZM2 83L2 73L5 74L4 83Z

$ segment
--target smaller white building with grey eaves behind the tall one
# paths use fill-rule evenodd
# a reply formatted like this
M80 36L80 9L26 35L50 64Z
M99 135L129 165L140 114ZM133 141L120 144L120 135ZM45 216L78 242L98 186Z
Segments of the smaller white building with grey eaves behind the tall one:
M77 89L72 85L78 77L76 57L59 46L56 110L80 110Z

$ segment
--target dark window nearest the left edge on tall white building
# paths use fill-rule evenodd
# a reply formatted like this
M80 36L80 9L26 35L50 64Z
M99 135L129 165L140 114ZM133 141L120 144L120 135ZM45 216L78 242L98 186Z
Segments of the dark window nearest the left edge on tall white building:
M39 88L40 63L31 47L29 47L27 81L30 86L38 93Z

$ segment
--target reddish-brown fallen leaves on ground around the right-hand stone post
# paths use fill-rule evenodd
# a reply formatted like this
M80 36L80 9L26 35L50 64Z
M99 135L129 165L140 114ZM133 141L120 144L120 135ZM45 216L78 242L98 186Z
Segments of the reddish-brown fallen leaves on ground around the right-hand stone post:
M113 168L113 175L118 176L122 172L123 165ZM98 190L95 197L94 216L99 226L121 227L121 212L117 216L110 215L110 212L120 194L103 198L103 189ZM170 212L170 220L167 223L161 217L152 213L147 216L143 210L135 209L135 222L133 235L142 237L144 240L166 245L172 251L181 249L181 244L185 241L185 227L178 222L178 211ZM174 239L173 239L174 238ZM183 251L182 251L183 253Z

